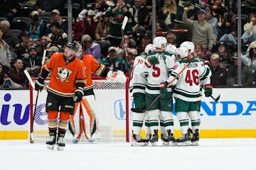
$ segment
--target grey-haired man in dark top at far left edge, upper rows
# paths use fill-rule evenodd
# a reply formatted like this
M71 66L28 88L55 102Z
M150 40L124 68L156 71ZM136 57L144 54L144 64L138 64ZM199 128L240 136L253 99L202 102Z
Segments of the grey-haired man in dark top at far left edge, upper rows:
M14 35L14 33L10 32L10 23L9 21L1 21L0 28L3 28L2 31L4 33L3 40L9 45L9 50L11 52L11 57L15 58L14 48L18 44L18 37Z

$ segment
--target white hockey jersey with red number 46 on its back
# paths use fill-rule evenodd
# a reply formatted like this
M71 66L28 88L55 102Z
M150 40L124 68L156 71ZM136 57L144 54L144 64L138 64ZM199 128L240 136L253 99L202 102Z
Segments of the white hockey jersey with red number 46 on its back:
M187 63L187 60L178 60L168 81L174 79ZM210 74L210 69L203 62L192 60L172 84L176 85L174 97L183 101L201 101L201 79L209 79Z

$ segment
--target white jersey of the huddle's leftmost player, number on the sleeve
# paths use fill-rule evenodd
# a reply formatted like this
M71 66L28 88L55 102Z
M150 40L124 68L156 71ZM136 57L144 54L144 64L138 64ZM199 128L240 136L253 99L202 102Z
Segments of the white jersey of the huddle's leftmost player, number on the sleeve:
M129 81L129 91L131 96L134 93L145 94L146 77L144 72L146 69L146 65L144 64L144 62L145 57L141 55L135 57L134 59L131 80Z

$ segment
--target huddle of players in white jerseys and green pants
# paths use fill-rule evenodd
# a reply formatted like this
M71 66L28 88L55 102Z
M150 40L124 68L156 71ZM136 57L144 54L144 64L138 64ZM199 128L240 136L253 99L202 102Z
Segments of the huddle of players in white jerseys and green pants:
M176 48L167 45L166 38L156 37L146 46L144 55L135 58L130 81L134 98L132 146L157 146L159 126L165 146L198 145L201 88L208 97L212 86L209 62L194 58L193 50L193 42L183 42ZM173 97L182 132L178 139L174 137ZM140 136L143 124L144 139Z

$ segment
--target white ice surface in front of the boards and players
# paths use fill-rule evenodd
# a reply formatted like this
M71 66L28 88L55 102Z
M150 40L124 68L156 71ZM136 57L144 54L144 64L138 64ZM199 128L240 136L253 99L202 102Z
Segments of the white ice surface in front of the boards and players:
M0 170L255 170L256 138L201 139L199 147L131 147L126 142L66 144L0 140Z

